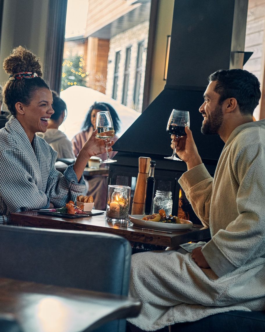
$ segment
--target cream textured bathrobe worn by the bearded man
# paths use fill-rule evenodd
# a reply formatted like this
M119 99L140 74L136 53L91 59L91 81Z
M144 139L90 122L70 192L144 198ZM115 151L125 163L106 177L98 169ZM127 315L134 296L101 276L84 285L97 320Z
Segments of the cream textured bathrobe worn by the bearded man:
M231 133L214 178L201 164L179 183L210 227L202 252L211 268L199 268L189 253L132 255L130 295L143 308L130 322L154 331L229 310L265 310L265 120Z

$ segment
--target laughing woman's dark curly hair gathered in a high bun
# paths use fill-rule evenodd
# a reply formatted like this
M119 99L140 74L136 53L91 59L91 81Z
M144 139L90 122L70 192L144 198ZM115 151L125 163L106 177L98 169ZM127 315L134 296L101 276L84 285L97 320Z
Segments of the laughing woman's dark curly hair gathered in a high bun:
M11 76L22 71L36 73L38 77L32 79L8 80L3 88L3 101L9 113L16 117L15 105L22 102L29 105L36 90L40 88L50 89L41 78L41 62L31 51L22 46L13 49L13 53L5 58L3 68Z

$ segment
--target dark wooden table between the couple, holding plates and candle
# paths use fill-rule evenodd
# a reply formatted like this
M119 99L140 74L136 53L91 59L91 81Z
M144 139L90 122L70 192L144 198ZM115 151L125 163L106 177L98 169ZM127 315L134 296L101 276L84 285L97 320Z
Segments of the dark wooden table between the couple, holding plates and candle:
M158 230L154 231L151 229L137 229L120 226L115 223L107 222L105 214L68 219L41 215L34 211L16 212L11 213L11 224L30 227L112 233L123 236L132 242L141 242L165 247L174 247L189 241L202 241L210 238L210 230L202 225L195 225L196 227L183 231L166 233Z

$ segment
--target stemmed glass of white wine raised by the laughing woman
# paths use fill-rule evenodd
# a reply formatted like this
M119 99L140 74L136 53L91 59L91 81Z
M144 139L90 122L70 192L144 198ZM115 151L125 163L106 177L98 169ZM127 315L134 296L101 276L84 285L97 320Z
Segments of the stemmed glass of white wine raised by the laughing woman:
M109 111L102 111L97 113L96 128L98 138L106 139L114 136L115 130L113 128L113 123ZM117 160L110 159L108 152L108 143L105 144L107 151L107 159L101 161L101 163L114 163Z

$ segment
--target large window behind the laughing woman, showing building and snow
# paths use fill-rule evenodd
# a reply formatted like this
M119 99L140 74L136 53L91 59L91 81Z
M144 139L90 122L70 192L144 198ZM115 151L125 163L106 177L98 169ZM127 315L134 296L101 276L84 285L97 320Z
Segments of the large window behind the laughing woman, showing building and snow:
M151 1L67 1L60 97L68 110L61 129L70 139L80 131L95 101L108 103L117 111L121 119L118 136L142 112L143 99L148 99L143 87ZM147 73L150 75L150 69Z

